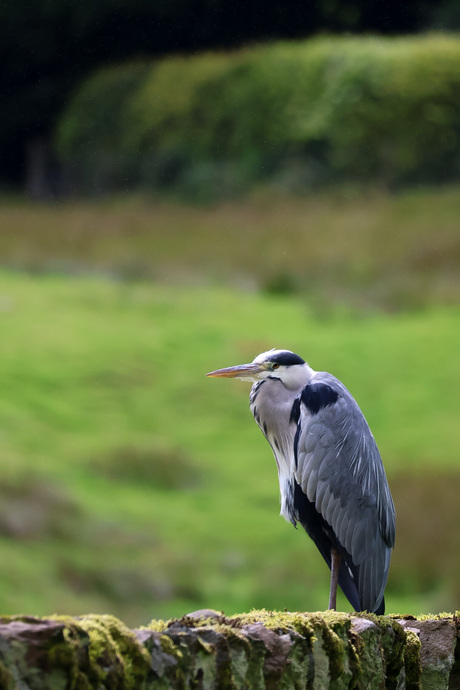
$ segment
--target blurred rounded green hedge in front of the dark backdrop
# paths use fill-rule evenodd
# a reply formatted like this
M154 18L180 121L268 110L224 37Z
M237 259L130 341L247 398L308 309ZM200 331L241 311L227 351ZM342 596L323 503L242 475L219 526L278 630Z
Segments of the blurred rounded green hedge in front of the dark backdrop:
M114 67L81 85L56 139L96 189L101 177L223 196L263 179L294 191L455 179L460 38L322 38Z

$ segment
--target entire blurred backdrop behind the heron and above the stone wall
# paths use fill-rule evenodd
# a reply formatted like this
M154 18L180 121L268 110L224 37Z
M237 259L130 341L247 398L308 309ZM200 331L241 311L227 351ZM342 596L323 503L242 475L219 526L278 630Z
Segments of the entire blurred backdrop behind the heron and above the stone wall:
M374 432L387 611L459 608L459 30L452 0L0 7L2 614L324 609L249 385L204 376L271 347Z

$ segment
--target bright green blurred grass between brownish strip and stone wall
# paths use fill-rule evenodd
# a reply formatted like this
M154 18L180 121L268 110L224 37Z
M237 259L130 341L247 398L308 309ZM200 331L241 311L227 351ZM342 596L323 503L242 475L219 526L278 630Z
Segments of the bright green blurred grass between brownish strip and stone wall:
M2 613L324 609L249 386L204 376L274 346L339 376L371 424L400 516L388 611L458 608L457 306L326 318L303 293L4 271L0 333Z

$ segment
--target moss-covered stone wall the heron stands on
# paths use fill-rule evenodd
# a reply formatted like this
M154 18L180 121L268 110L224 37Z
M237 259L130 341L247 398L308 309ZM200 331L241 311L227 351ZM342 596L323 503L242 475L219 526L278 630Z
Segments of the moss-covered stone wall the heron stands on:
M196 611L129 630L113 616L0 619L0 690L460 688L460 621Z

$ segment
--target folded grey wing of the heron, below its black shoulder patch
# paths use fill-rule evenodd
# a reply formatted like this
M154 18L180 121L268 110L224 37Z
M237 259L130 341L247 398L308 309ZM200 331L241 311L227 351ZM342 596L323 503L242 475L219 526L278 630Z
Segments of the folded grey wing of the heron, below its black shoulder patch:
M395 510L369 426L348 390L328 375L337 400L316 412L300 405L296 481L350 554L362 609L383 599Z

